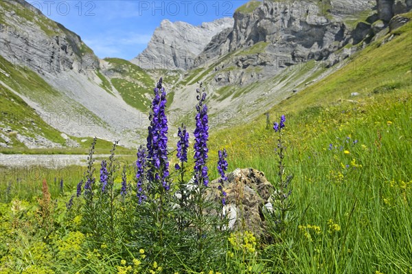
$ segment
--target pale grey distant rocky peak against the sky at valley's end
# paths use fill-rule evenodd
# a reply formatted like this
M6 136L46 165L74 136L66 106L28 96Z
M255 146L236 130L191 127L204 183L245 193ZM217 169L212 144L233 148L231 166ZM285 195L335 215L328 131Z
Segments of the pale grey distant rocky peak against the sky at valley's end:
M148 47L131 62L144 69L188 69L213 36L232 26L231 18L200 26L165 19L155 30Z

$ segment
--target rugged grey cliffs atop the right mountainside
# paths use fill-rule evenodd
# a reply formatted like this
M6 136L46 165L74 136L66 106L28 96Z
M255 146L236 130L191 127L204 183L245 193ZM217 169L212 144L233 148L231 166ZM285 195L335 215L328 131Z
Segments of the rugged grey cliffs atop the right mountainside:
M347 43L362 41L371 32L370 25L356 29L345 20L372 13L376 5L375 0L332 0L328 5L323 1L252 3L233 14L233 29L214 36L194 62L197 67L228 54L224 67L216 67L219 73L213 84L217 87L246 85L300 62L327 60Z

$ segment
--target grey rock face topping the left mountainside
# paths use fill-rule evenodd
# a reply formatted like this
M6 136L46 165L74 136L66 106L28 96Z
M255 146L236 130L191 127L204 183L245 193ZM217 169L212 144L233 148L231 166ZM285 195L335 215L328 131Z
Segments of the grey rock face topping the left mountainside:
M85 73L98 68L98 58L80 36L47 19L25 1L6 0L0 24L1 56L38 73L75 70ZM16 12L23 14L16 15Z

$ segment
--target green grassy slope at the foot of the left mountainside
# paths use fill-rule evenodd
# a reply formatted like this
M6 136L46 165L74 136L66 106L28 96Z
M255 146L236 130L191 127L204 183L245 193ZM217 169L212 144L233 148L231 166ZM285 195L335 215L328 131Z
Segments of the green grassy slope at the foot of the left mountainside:
M28 67L21 67L16 64L12 64L0 56L0 80L4 82L8 87L14 89L27 96L34 102L38 102L41 106L54 106L53 102L66 102L67 104L73 104L73 102L67 101L56 89L51 87L45 80L38 76L34 71ZM77 138L70 137L71 139L78 141L80 148L67 148L65 147L65 139L61 136L61 132L47 124L48 119L58 119L56 113L60 110L50 110L49 116L41 117L38 113L28 106L19 95L16 95L10 89L0 84L0 127L10 128L10 132L1 132L5 139L11 141L12 148L0 148L1 153L25 153L25 154L84 154L89 149L91 138ZM75 109L78 113L82 113L84 117L90 117L94 122L102 123L101 120L93 115L90 111L82 106L76 106ZM25 137L32 137L37 139L39 136L53 141L56 144L63 146L62 148L41 148L41 149L28 149L21 140L19 135ZM5 144L6 140L0 136L0 142ZM82 142L82 139L89 141ZM107 153L112 146L111 141L100 140L101 153ZM130 150L120 148L122 152L130 152Z

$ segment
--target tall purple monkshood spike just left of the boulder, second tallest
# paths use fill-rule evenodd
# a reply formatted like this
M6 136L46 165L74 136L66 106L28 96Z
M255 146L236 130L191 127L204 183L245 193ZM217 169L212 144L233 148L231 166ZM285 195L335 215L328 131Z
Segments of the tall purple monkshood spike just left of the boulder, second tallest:
M202 83L200 84L202 87ZM204 89L202 89L204 91ZM204 103L206 93L201 93L201 89L196 89L198 93L198 104L196 105L196 129L194 130L194 183L198 184L203 181L203 185L207 187L209 184L209 176L207 175L206 160L208 158L207 141L209 139L209 126L207 117L207 106Z

